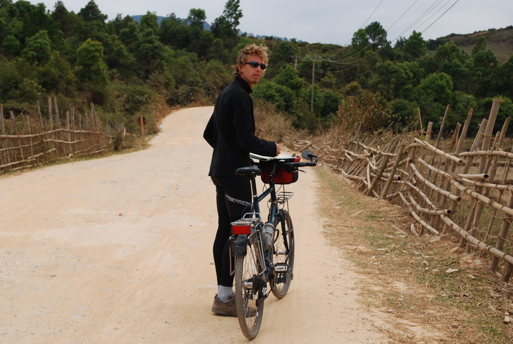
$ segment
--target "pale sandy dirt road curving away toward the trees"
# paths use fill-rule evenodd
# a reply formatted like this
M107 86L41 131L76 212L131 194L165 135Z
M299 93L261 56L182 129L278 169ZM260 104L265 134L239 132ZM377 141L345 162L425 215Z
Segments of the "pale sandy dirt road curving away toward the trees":
M211 107L167 116L151 147L0 178L0 343L242 343L211 313ZM289 294L266 301L253 343L384 343L326 243L315 173L289 186L296 233ZM373 319L373 320L371 320Z

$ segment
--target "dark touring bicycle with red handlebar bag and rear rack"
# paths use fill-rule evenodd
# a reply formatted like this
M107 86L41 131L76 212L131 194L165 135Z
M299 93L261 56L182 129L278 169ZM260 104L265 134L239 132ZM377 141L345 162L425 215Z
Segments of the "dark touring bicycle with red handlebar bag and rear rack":
M235 260L230 270L235 274L235 305L240 329L244 336L253 339L262 324L269 290L282 299L293 279L295 241L288 202L294 193L285 191L282 186L296 182L300 167L315 166L319 158L311 151L302 152L302 157L309 162L300 162L297 156L269 158L251 154L250 157L259 162L242 167L235 174L251 180L253 202L249 213L231 223L229 247ZM268 185L260 195L255 181L259 175ZM282 185L278 191L276 185ZM269 215L264 223L260 202L269 195Z

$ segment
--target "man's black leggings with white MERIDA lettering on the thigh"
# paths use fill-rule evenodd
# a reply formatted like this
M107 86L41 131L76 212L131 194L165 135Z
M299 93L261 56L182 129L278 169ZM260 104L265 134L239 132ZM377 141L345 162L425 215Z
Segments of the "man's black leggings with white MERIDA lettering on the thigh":
M228 244L231 235L230 224L251 209L251 184L245 177L211 177L211 179L216 185L218 206L218 232L213 241L213 261L216 264L218 285L231 287L233 275L230 275L231 257Z

